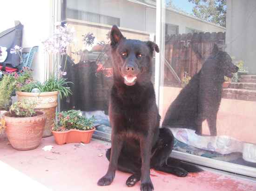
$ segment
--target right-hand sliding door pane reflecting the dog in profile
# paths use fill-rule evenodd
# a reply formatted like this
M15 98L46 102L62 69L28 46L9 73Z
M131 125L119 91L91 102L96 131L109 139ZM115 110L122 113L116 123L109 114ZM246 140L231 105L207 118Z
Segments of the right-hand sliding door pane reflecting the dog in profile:
M165 5L159 111L173 156L256 177L256 1Z

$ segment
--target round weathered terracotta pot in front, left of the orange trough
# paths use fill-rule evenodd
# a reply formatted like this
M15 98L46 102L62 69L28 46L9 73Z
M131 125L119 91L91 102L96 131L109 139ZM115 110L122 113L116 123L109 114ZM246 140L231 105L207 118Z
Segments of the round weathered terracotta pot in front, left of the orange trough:
M32 150L40 145L46 115L37 111L34 117L11 117L5 112L3 118L6 122L6 134L13 148L21 151Z

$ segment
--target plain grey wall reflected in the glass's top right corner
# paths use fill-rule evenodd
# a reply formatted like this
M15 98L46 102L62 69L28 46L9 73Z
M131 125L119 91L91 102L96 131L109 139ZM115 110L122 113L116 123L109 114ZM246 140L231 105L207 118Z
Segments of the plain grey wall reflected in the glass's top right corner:
M227 0L227 51L256 74L256 0Z

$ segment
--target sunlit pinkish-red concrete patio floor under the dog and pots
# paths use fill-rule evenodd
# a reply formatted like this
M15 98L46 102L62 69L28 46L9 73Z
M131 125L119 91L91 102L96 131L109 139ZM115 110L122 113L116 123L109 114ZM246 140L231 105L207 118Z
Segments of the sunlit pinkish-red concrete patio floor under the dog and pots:
M44 151L44 146L53 146ZM108 167L109 143L56 145L43 138L31 151L17 151L0 137L0 191L139 191L140 183L125 185L128 173L116 172L112 185L97 186ZM256 191L256 182L216 172L190 173L186 178L151 170L155 191Z

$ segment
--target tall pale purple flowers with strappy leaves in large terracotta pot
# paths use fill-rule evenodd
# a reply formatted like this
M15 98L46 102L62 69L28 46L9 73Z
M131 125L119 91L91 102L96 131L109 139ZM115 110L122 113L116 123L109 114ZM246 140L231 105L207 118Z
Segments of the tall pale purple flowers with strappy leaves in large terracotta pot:
M53 73L51 75L45 70L46 80L44 83L32 82L17 89L16 94L18 100L33 99L37 101L36 109L44 111L47 116L43 137L52 135L52 124L55 119L56 107L58 105L58 94L60 98L71 95L66 79L62 76L66 75L67 52L73 43L74 28L67 27L67 24L61 25L60 22L55 23L54 32L49 38L42 42L44 51L52 56L60 56L61 63L64 68L61 69L60 63L56 60L53 63Z

